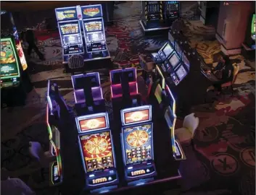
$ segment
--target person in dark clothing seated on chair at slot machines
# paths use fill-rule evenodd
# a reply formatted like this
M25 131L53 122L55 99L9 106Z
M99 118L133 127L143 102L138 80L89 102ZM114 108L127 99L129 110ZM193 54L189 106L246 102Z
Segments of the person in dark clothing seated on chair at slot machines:
M218 77L220 80L214 82L212 86L208 87L207 92L210 90L217 90L218 94L220 94L221 84L232 82L234 76L234 66L231 64L228 56L221 57L217 66L211 70L207 70L207 74L215 73L217 71L220 72L220 77Z

